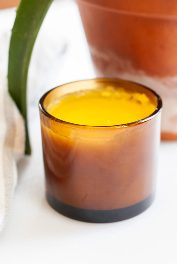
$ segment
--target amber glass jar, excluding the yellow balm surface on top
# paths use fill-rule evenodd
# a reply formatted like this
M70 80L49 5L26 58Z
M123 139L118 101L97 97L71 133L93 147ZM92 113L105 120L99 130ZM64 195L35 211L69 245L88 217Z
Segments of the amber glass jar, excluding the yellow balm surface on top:
M57 98L107 86L144 93L156 110L115 126L72 124L47 112ZM161 98L151 89L118 79L78 81L45 93L39 109L49 204L65 216L95 223L146 210L155 195L161 108Z

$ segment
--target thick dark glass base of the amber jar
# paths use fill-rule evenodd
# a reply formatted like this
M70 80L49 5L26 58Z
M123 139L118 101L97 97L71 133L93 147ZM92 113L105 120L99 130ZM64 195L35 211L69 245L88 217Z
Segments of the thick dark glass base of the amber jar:
M46 193L46 199L54 210L69 218L90 223L110 223L141 214L152 204L154 195L149 195L146 199L137 204L112 210L88 210L73 207L58 201L48 192Z

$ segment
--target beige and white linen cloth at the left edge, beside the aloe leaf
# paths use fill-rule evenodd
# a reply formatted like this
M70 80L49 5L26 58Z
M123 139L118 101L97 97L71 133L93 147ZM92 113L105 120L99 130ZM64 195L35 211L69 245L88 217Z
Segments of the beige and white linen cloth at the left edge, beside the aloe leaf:
M0 36L0 232L4 227L14 188L17 161L24 154L24 120L8 93L7 65L10 32Z

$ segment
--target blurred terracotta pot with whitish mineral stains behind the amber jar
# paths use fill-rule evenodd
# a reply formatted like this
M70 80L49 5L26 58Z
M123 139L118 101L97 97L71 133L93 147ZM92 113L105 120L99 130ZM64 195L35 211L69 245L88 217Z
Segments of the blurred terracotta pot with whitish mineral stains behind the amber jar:
M177 139L177 1L77 0L99 77L144 84L163 101L162 139Z

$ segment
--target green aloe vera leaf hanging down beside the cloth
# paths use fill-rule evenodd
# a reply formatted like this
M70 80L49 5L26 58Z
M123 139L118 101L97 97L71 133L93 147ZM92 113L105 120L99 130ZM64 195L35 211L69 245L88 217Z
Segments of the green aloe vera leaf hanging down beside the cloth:
M31 154L27 125L26 85L32 49L40 26L53 0L21 0L12 29L8 89L25 120L25 153Z

